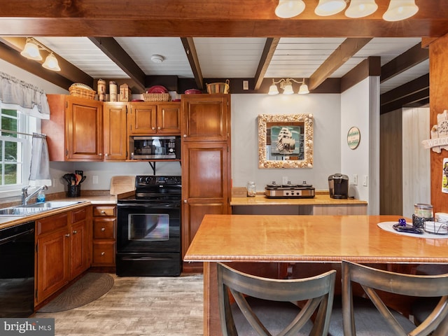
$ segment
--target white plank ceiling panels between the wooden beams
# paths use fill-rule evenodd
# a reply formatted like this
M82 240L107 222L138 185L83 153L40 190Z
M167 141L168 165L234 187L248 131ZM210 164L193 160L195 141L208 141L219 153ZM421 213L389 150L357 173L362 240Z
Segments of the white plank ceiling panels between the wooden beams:
M129 78L87 37L36 38L93 78ZM116 37L116 41L147 75L194 78L181 38ZM265 78L309 78L345 38L281 38ZM193 38L203 78L254 78L266 38ZM381 66L421 42L421 38L373 38L330 77L340 78L369 56L381 57ZM164 57L162 63L151 55ZM381 93L429 72L422 62L381 83Z

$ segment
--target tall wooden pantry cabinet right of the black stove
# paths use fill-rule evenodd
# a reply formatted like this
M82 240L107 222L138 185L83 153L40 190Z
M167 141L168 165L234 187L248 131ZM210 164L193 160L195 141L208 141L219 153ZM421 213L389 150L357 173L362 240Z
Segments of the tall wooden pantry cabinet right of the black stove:
M182 255L205 214L230 214L230 94L182 96ZM183 272L202 270L184 263Z

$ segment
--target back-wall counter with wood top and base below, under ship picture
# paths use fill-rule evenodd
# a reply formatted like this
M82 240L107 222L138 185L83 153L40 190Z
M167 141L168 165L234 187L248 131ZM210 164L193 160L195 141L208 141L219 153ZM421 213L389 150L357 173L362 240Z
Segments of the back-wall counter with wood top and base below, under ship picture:
M313 198L232 197L232 214L288 215L365 215L367 202L348 198L337 200L328 193L316 193Z

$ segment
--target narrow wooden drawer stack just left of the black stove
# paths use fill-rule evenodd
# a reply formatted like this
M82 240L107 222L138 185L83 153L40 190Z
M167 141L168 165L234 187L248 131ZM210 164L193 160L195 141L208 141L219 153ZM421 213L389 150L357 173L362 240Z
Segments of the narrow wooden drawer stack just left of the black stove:
M115 267L116 265L116 209L114 205L94 205L92 207L92 266Z

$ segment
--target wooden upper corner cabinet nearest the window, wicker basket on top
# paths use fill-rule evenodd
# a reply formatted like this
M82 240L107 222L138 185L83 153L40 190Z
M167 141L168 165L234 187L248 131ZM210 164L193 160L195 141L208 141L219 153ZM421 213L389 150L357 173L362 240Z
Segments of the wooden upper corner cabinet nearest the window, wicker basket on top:
M42 120L51 161L103 160L103 104L67 94L48 94L50 120Z

